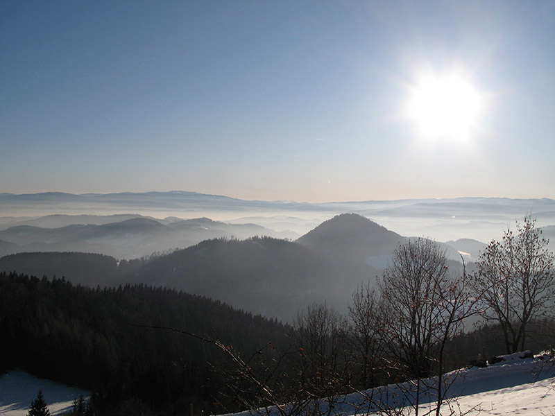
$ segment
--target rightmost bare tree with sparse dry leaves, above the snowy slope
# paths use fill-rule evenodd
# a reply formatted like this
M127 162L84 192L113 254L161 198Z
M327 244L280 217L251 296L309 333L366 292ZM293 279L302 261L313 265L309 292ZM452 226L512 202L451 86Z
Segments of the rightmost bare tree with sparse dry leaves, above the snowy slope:
M552 309L554 255L541 236L536 220L524 217L517 234L507 230L502 241L491 241L477 261L472 288L479 297L486 322L502 329L506 352L523 351L527 326Z

